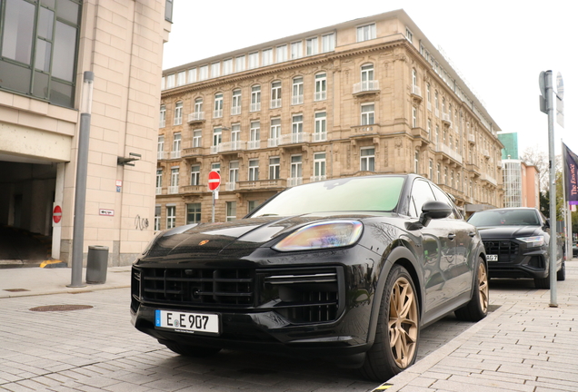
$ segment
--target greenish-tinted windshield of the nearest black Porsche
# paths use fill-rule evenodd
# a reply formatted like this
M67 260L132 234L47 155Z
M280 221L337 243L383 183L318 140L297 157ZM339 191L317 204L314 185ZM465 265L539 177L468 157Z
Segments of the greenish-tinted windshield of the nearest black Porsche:
M290 188L255 211L260 216L292 216L327 211L394 211L405 177L355 177Z

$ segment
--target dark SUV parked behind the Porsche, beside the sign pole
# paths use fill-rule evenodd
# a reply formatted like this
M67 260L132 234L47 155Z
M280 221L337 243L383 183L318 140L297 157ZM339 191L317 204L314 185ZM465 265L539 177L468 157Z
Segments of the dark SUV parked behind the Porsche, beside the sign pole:
M536 289L550 288L550 221L534 208L475 212L468 222L480 231L490 278L531 278ZM566 276L557 244L556 279Z

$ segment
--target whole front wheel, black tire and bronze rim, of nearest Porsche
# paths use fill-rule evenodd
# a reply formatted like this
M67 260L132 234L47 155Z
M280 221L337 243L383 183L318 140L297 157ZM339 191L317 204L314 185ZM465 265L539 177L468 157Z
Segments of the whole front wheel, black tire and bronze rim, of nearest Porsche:
M396 311L400 308L401 313ZM420 335L417 291L409 272L401 265L394 265L389 272L377 317L374 345L367 351L359 372L365 378L384 382L412 366L417 356Z

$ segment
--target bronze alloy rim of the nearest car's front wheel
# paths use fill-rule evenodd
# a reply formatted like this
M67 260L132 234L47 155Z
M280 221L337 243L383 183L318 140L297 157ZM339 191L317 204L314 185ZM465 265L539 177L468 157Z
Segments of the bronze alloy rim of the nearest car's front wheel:
M412 363L417 348L419 331L417 323L417 302L414 289L407 279L400 277L395 280L392 289L388 323L389 344L399 368L407 368Z

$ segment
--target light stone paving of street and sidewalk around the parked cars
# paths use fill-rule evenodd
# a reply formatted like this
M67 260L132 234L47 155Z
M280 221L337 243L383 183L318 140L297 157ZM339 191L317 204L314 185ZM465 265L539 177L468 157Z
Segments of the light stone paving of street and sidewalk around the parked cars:
M448 316L422 331L419 361L388 391L578 391L578 262L550 292L495 281L480 323ZM175 355L130 323L130 291L103 289L0 299L0 390L371 391L378 384L314 360L224 351ZM32 311L89 305L91 309Z

